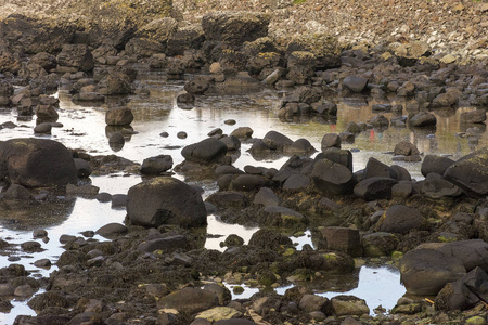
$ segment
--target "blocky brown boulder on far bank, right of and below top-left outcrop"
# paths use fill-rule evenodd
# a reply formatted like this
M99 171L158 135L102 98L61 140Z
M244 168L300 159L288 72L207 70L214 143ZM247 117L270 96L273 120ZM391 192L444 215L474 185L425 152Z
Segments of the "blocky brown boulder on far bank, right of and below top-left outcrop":
M86 44L64 44L56 60L59 67L72 72L91 72L94 67L93 55Z

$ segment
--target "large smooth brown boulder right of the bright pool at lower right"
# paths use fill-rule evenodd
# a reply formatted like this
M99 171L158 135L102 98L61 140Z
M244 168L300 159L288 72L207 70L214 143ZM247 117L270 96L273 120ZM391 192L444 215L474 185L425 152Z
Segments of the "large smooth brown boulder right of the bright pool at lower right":
M403 256L400 273L408 294L435 296L446 284L460 280L466 269L457 258L435 249L421 248Z

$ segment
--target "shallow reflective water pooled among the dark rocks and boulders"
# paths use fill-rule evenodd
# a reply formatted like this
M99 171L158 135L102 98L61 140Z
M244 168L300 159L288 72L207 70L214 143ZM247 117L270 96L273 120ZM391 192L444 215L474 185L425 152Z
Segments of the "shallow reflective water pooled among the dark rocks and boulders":
M187 76L187 79L191 76ZM216 128L221 128L223 133L230 133L237 127L251 127L254 130L253 138L262 138L269 130L281 132L292 140L306 138L311 144L320 150L320 142L325 133L344 131L349 121L368 121L376 114L372 113L372 104L394 103L404 104L399 99L371 99L356 96L341 99L337 101L337 121L323 121L317 119L301 119L294 122L283 122L278 118L282 92L272 89L264 89L259 93L232 96L200 96L192 109L181 109L176 103L176 96L183 92L184 80L167 80L165 74L143 73L138 79L138 87L150 90L150 95L132 95L124 99L113 99L101 106L81 106L74 104L68 94L56 93L60 98L60 119L62 128L53 128L52 135L43 136L62 142L69 148L82 148L90 155L116 154L133 161L142 162L144 158L160 154L171 155L175 165L182 161L181 148L188 144L198 142L207 136L207 133ZM333 99L335 101L335 99ZM113 103L112 103L113 101ZM111 105L124 104L132 108L134 121L132 128L137 132L130 140L126 140L125 146L113 152L108 145L105 127L105 110ZM354 152L354 170L364 168L370 157L393 165L393 152L395 144L402 140L414 143L424 154L450 155L454 158L470 153L473 150L465 138L458 133L465 130L460 126L460 114L473 110L473 107L434 112L438 118L436 130L409 130L389 128L384 131L368 130L356 136L352 144L343 145ZM406 114L406 112L403 112ZM390 118L390 114L384 114ZM227 119L236 120L236 125L229 126L223 121ZM33 127L35 120L20 121L15 110L0 110L0 122L13 121L22 127L14 129L3 129L0 131L0 140L12 138L34 136ZM26 127L24 127L26 126ZM166 131L168 138L159 134ZM177 133L184 131L188 138L179 139ZM488 145L487 131L483 130L478 146ZM255 160L246 151L251 144L243 143L241 155L234 162L237 168L246 165L280 168L288 157L278 159ZM422 179L420 173L420 162L395 162L407 168L413 178ZM182 176L175 176L184 180ZM137 176L116 173L107 177L92 177L92 184L100 187L100 192L111 194L127 194L132 185L141 182ZM217 191L213 182L197 182L203 186L205 197ZM44 229L49 233L50 240L41 243L46 249L39 253L15 252L18 261L8 260L8 256L0 256L0 268L10 263L21 263L33 272L34 276L49 276L55 270L36 269L33 263L41 258L49 258L54 263L57 257L64 251L59 243L63 234L79 235L84 231L97 231L100 226L110 222L123 222L125 209L113 209L110 203L99 203L95 199L74 198L69 204L53 206L52 209L35 210L12 217L11 211L0 212L0 237L9 243L21 244L33 239L33 231ZM208 217L207 233L217 236L209 236L205 244L208 249L219 249L219 243L229 234L237 234L246 242L257 229L244 227L236 224L226 224L219 221L218 216ZM304 244L312 244L310 233L305 236L292 238L297 243L298 248ZM95 239L105 240L95 235ZM317 290L325 297L333 297L346 291L365 299L371 310L382 304L387 310L391 309L398 298L404 294L404 288L400 284L400 276L397 270L391 266L362 266L358 268L352 275L356 281L345 280L344 285L329 288L326 291ZM341 283L341 282L337 282ZM352 286L351 286L352 283ZM279 294L283 294L286 288L278 288ZM257 289L256 289L257 290ZM243 295L234 298L245 298L256 290L246 288ZM14 308L10 313L0 313L0 324L12 324L18 314L35 314L26 306L26 300L13 300Z

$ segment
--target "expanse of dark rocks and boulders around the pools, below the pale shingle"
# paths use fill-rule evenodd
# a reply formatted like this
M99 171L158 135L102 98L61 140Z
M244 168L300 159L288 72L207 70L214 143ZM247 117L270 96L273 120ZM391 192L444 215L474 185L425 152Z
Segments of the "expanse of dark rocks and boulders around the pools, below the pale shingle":
M174 3L169 11L163 2L156 4L159 15L176 15L179 10L184 17L210 2L184 10ZM453 11L484 13L484 4L462 3ZM299 12L311 3L275 5ZM114 8L105 9L111 13ZM278 113L283 122L304 117L333 121L336 95L368 93L385 101L398 96L407 104L374 105L373 119L350 122L339 134L324 134L320 148L307 139L293 141L272 130L255 139L249 127L230 134L216 129L209 138L185 146L184 161L175 167L164 155L147 157L139 166L115 155L90 156L52 140L0 142L0 203L5 207L48 206L66 195L112 200L127 209L125 224L62 236L65 252L49 278L29 277L16 263L0 270L2 311L12 308L14 296L44 290L28 302L38 315L20 315L15 324L486 324L488 150L478 147L486 136L488 107L483 43L466 55L436 53L422 41L372 39L370 44L344 46L348 39L313 24L309 24L313 32L288 37L286 31L282 38L277 30L286 29L277 28L279 13L209 12L198 23L188 18L192 24L183 27L169 16L132 23L130 17L144 9L134 2L121 11L128 16L116 13L123 20L115 25L5 17L0 24L1 107L15 109L20 120L36 118L33 134L50 134L61 125L59 100L50 92L69 93L74 102L87 105L144 95L147 90L133 84L141 68L171 78L197 74L177 99L184 109L191 109L198 96L246 94L262 87L286 94ZM486 30L483 20L472 21ZM422 161L425 180L416 181L403 167L374 158L363 170L354 170L351 152L342 148L371 129L435 130L438 121L432 112L462 106L474 108L462 114L459 134L473 145L470 155L457 160L423 156L408 141L393 150L393 161ZM386 118L387 112L394 117ZM133 134L132 120L131 109L123 104L106 112L114 151ZM2 123L0 134L3 128L17 127ZM290 159L279 169L240 170L232 161L244 142L252 144L253 157ZM147 180L117 197L99 193L86 181L90 174L117 171L144 174ZM202 188L171 172L213 180L219 191L203 202ZM229 223L260 230L246 245L239 234L229 236L222 240L224 252L204 249L202 226L215 212ZM297 250L290 235L307 229L319 243ZM98 242L94 233L112 240ZM43 231L34 234L38 240L47 236ZM18 249L3 239L0 247L3 255ZM41 248L33 240L20 249ZM371 316L362 299L345 295L326 299L308 288L328 274L351 273L355 258L398 263L408 296L389 314L377 309ZM49 263L40 260L36 266ZM222 282L261 290L249 299L232 299ZM285 284L294 286L283 296L271 289Z

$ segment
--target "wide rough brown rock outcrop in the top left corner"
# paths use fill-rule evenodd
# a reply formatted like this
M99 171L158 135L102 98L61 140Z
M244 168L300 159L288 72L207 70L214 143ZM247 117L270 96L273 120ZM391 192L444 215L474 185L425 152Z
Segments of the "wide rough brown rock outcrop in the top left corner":
M75 31L75 25L36 21L21 14L10 15L0 24L1 42L21 53L56 53L73 41Z

